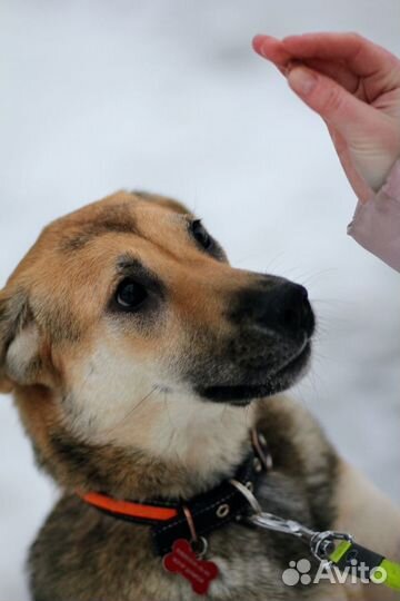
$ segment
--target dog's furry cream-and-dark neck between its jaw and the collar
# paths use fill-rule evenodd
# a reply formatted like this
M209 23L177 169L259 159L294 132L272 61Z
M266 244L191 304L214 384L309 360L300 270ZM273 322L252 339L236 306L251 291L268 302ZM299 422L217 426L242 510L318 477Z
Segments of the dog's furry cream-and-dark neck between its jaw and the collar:
M171 398L168 407L159 407L151 427L136 414L103 439L84 440L53 420L43 428L47 443L38 445L39 463L69 491L139 501L203 492L231 476L250 450L254 410L183 401ZM18 402L23 411L22 398ZM57 401L49 397L48 404Z

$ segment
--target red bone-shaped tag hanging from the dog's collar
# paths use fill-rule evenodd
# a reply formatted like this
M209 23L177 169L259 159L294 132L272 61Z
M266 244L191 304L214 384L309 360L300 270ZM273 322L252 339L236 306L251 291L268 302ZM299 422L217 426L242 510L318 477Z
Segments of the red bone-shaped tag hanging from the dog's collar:
M179 539L172 545L172 552L162 560L169 572L181 574L189 580L198 594L207 594L211 581L218 577L218 566L212 561L203 561L196 556L189 541Z

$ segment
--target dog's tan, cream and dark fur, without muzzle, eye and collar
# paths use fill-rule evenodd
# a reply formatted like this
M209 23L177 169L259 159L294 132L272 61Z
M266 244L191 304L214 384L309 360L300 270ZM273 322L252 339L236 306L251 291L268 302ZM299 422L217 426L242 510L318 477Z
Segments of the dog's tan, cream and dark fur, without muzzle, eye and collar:
M190 497L232 473L254 423L276 463L260 497L266 508L400 554L397 510L338 459L301 407L282 397L249 407L204 403L177 376L188 345L207 354L210 335L218 344L230 329L229 295L253 277L189 244L187 220L174 200L118 193L47 227L0 293L0 387L12 391L39 464L63 491L30 554L34 601L193 599L187 582L162 571L148 526L117 522L73 492ZM146 259L168 288L157 323L136 318L132 327L106 311L120 256ZM383 538L371 523L381 506ZM306 551L273 533L231 524L209 542L221 572L209 599L387 594L284 587L282 570Z

